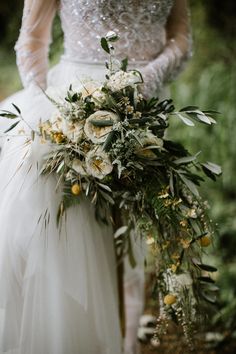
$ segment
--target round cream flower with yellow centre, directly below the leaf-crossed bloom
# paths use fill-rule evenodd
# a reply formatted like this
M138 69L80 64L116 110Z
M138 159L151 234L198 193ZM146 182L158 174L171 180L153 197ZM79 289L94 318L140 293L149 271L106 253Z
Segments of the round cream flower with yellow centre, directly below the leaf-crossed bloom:
M85 163L87 173L98 179L103 179L113 169L109 156L101 147L89 151Z

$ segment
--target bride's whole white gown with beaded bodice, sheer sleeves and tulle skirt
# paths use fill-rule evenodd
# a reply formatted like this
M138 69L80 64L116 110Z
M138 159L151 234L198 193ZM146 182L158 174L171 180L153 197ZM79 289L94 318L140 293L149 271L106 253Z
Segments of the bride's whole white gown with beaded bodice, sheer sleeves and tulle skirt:
M65 50L48 72L56 11ZM40 88L60 92L88 77L104 80L100 37L110 30L120 36L117 57L128 57L129 67L142 72L146 96L159 94L190 53L185 0L25 0L16 44L24 89L0 106L12 109L15 103L25 120L4 139L0 161L0 353L138 353L144 251L134 237L137 266L132 269L125 260L123 341L112 227L99 224L81 197L59 232L60 190L53 176L39 173L48 148L37 138L27 143L24 136L28 126L36 128L54 110Z

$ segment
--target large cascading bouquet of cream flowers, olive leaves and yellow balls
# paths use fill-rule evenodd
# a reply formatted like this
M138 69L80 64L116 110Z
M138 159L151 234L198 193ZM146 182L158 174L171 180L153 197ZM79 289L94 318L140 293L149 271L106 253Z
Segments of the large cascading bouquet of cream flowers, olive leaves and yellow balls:
M131 231L155 254L157 334L165 332L172 315L190 338L204 301L214 301L209 272L216 271L201 260L214 230L197 187L203 181L201 172L215 180L221 171L215 164L199 162L198 154L168 140L166 133L173 119L191 126L193 121L214 124L215 112L195 106L175 111L171 99L144 98L140 72L127 71L127 60L117 67L117 39L109 33L101 40L110 55L102 85L91 81L80 90L70 87L60 102L49 97L55 113L34 132L51 146L41 173L56 175L63 186L59 225L67 208L80 207L82 196L94 205L98 221L109 222L114 206L120 210L123 225L115 232L119 256L128 254L135 265ZM17 114L1 114L19 118L14 127L23 119L15 108Z

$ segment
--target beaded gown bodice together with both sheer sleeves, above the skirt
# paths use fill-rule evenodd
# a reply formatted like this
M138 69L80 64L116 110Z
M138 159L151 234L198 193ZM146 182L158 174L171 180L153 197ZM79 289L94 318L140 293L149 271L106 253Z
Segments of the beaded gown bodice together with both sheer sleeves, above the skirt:
M120 35L118 58L141 62L151 95L162 89L183 66L191 51L187 0L25 0L16 44L23 85L46 85L51 25L59 10L64 31L64 58L104 62L100 38L110 30ZM145 64L145 66L144 66Z

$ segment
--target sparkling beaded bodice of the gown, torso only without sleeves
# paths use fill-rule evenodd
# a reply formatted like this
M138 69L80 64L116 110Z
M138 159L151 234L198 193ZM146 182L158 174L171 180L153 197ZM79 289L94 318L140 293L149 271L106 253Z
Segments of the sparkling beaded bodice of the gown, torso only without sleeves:
M62 0L60 16L65 56L104 61L99 38L114 30L120 35L116 55L150 61L166 43L165 25L174 0Z

